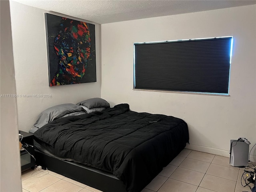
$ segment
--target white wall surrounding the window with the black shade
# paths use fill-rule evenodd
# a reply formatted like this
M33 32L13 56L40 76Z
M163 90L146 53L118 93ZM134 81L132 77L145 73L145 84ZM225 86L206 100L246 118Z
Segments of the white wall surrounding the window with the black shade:
M133 88L133 44L234 36L230 96L150 92ZM102 25L101 97L112 106L176 116L188 123L187 148L228 156L231 139L256 143L256 6ZM251 154L256 154L256 149ZM256 158L254 159L256 162Z

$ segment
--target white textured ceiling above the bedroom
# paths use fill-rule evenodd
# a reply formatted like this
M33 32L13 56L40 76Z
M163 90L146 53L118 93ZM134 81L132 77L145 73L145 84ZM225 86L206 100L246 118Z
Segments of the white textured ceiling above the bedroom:
M256 4L256 0L13 0L99 24Z

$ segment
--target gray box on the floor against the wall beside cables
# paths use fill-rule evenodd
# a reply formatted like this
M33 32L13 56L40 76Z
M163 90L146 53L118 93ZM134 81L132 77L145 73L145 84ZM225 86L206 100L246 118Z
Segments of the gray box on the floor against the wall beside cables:
M249 145L243 141L230 140L230 165L246 166L249 160Z

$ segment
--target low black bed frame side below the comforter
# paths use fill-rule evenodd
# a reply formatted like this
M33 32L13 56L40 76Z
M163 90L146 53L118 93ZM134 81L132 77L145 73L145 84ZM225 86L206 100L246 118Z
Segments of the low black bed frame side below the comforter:
M43 169L47 168L103 192L126 192L123 182L108 172L60 160L38 150L35 150L35 158L36 165L41 165Z

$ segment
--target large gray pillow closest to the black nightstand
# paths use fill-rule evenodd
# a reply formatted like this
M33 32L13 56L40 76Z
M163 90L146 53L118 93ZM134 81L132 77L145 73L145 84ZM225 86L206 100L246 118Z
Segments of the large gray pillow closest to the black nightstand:
M70 114L73 112L79 112L82 111L83 108L72 104L72 103L66 103L66 104L60 104L53 107L50 107L46 110L44 110L42 113L39 114L38 120L34 124L35 127L41 128L42 126L46 125L49 122L52 122L53 120L60 118L66 114Z

